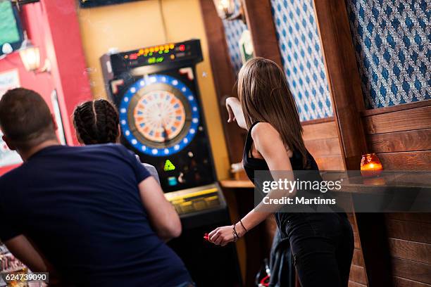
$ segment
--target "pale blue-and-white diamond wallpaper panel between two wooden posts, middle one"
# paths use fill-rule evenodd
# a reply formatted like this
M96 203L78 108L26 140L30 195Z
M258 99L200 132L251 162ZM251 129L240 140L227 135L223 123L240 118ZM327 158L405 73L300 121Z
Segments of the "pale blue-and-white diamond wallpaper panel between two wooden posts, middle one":
M332 116L313 0L271 0L287 82L301 121Z

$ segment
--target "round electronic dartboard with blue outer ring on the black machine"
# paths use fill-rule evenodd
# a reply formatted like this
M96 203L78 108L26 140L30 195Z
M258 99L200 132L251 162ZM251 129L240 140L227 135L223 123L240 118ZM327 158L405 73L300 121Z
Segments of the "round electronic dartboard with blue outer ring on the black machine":
M193 92L168 75L151 75L132 84L120 103L124 138L137 150L163 156L181 151L199 127Z

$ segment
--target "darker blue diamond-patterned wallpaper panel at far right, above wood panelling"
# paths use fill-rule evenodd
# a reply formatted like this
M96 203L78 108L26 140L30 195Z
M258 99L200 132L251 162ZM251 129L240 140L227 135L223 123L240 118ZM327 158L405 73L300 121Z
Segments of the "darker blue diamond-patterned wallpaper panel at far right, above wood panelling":
M367 108L431 98L429 0L346 0Z

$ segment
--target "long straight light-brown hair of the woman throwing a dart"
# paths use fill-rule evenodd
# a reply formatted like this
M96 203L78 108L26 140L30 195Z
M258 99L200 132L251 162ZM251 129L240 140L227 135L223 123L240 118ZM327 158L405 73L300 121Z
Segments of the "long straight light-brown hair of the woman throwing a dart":
M307 165L302 126L283 70L272 60L256 57L239 70L238 97L248 128L258 122L272 125L292 151L299 151Z

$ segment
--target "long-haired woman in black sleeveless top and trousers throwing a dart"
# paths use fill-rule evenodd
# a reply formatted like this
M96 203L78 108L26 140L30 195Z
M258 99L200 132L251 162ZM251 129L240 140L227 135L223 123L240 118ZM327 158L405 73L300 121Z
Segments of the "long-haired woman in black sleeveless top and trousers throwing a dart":
M292 174L286 176L289 181L296 178L296 171L318 174L316 161L304 146L298 111L282 69L265 58L251 59L239 71L237 88L239 100L226 100L228 122L248 129L243 164L249 179L255 182L257 170L269 171L274 181L280 179L275 171ZM273 199L295 195L268 193ZM282 238L290 242L302 287L348 285L354 241L344 212L281 212L259 209L261 205L232 226L211 231L209 241L226 245L274 215Z

